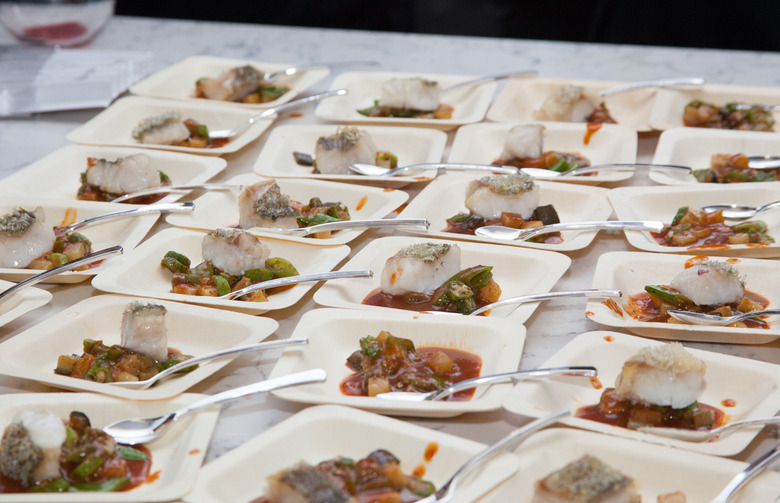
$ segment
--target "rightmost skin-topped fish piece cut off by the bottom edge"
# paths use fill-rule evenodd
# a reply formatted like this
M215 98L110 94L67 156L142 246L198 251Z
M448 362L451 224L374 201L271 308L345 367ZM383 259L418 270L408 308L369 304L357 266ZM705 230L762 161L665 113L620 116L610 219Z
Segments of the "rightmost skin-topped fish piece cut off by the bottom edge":
M633 480L585 455L537 481L532 503L641 503Z

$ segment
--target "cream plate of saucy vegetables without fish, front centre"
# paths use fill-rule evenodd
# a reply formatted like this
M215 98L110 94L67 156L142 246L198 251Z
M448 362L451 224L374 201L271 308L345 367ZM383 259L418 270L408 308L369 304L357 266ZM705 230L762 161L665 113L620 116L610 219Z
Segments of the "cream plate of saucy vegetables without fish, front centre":
M366 335L376 337L383 330L410 339L416 348L452 348L475 354L482 362L478 375L516 371L525 343L525 327L510 320L495 319L487 323L484 318L467 316L454 324L451 319L418 316L412 312L315 309L303 315L293 334L293 337L308 338L308 347L300 351L288 348L271 377L320 366L327 371L328 379L323 383L280 389L273 393L294 402L348 405L380 414L454 417L464 412L500 408L501 397L512 387L510 383L483 386L469 400L436 402L391 401L342 393L341 383L353 374L346 365L347 358L360 349L361 338Z

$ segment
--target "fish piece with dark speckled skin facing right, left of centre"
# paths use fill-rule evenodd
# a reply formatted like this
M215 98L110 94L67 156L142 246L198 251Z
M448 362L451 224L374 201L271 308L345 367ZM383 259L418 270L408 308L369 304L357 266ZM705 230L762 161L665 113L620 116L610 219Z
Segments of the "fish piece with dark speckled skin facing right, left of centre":
M258 182L238 196L239 227L297 229L301 212L290 206L290 196L282 194L275 181Z

